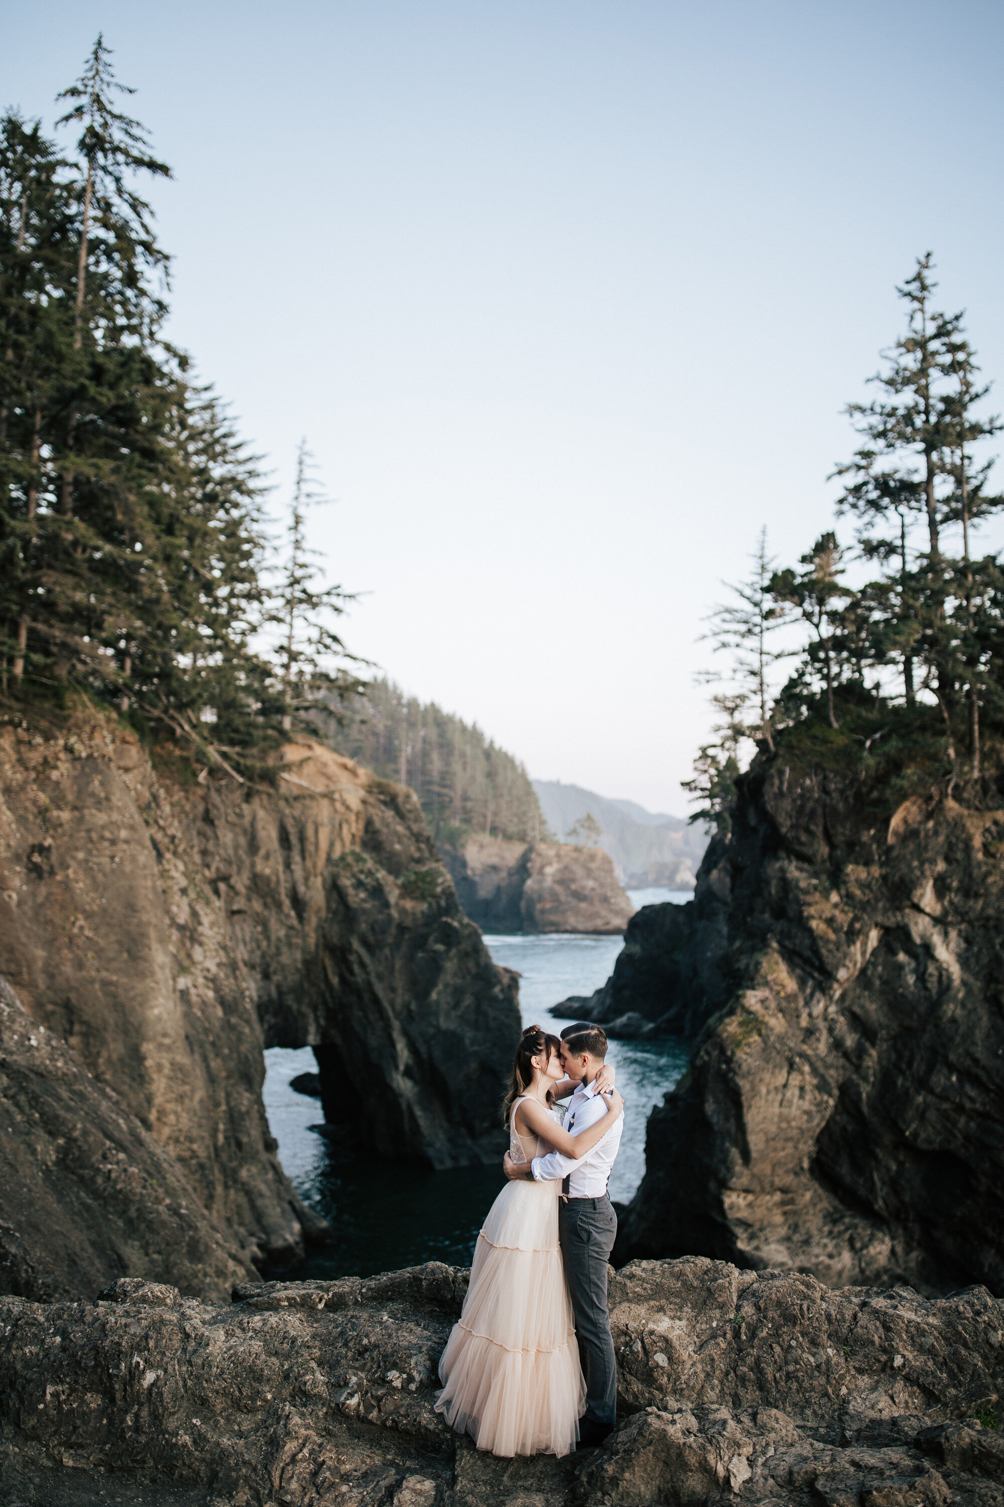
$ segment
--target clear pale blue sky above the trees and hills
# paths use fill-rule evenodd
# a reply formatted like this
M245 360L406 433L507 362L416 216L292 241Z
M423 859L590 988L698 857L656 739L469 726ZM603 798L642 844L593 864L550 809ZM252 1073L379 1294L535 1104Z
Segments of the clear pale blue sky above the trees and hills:
M829 526L917 255L1004 374L1004 9L0 0L0 102L51 124L99 29L175 169L172 338L277 505L307 436L349 645L685 811L701 615Z

